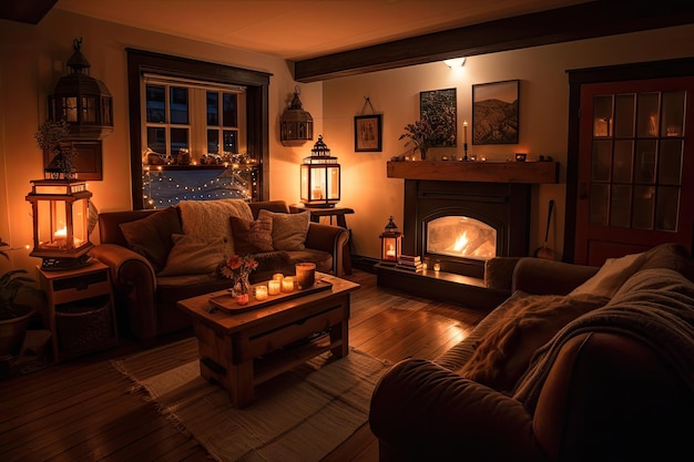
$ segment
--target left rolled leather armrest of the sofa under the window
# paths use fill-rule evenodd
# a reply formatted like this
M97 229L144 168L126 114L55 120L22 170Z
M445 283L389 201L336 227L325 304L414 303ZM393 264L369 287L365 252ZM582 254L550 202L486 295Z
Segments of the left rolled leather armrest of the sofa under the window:
M127 325L140 339L156 337L156 277L142 255L118 244L100 244L90 256L109 267L115 297L126 305Z

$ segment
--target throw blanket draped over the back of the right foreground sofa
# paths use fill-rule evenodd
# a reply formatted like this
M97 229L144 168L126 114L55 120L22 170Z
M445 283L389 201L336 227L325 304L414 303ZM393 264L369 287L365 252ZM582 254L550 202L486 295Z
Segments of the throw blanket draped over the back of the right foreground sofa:
M533 412L559 351L583 332L615 332L649 345L694 391L694 284L672 269L632 276L603 308L567 325L539 349L513 397Z

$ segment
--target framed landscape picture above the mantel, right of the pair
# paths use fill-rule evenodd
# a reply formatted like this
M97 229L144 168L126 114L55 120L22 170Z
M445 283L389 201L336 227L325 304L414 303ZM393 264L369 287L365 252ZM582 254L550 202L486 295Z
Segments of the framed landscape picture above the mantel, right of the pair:
M472 85L472 144L518 144L520 80Z

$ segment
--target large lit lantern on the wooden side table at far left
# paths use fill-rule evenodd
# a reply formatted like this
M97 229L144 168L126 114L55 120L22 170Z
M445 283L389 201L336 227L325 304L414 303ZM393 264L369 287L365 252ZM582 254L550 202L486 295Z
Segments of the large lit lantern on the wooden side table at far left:
M89 199L86 183L67 179L33 179L27 201L33 218L32 257L43 258L45 270L72 269L86 265Z

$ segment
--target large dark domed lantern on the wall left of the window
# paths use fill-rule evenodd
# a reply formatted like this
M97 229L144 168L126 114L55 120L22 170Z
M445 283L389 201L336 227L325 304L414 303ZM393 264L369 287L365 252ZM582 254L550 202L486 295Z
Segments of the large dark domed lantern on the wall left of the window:
M90 63L80 52L82 39L74 39L72 45L69 74L49 96L49 119L67 121L71 140L101 140L113 132L113 97L103 82L89 74Z

